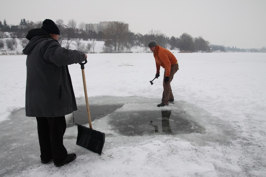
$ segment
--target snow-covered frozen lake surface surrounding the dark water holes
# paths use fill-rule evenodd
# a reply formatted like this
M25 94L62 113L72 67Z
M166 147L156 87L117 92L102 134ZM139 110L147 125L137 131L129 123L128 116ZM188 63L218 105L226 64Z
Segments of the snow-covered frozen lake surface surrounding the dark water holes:
M76 146L77 128L68 127L64 144L77 158L60 168L40 162L36 119L25 117L26 55L0 55L0 175L265 176L266 54L174 55L180 68L171 83L175 104L158 108L163 80L149 82L156 72L152 53L88 54L90 105L123 106L92 122L106 134L101 156ZM84 105L80 65L69 69L78 106ZM183 114L204 131L128 136L112 123L162 110L172 110L170 121Z

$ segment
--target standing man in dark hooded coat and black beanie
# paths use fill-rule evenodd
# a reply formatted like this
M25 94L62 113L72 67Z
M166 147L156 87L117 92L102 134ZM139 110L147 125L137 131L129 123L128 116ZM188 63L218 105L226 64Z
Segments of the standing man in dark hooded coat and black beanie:
M29 43L23 49L27 55L26 116L37 119L41 162L53 159L55 166L62 166L76 158L63 145L65 115L77 110L67 65L81 63L87 55L61 47L60 31L52 20L42 24L28 32Z

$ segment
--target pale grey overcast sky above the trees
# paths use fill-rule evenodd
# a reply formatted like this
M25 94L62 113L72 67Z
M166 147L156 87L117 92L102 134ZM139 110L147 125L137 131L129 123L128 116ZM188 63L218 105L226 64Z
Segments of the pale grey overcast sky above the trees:
M120 21L129 30L158 30L179 37L186 32L210 44L237 48L266 47L266 0L4 0L0 20L80 22Z

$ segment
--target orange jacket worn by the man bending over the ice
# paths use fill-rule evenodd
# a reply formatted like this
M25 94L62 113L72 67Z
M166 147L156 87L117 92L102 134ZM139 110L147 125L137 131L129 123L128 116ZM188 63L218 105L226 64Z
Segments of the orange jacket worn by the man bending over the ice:
M175 55L169 50L156 46L155 52L153 54L156 63L156 73L160 74L160 66L165 69L165 76L170 76L171 65L175 65L177 62Z

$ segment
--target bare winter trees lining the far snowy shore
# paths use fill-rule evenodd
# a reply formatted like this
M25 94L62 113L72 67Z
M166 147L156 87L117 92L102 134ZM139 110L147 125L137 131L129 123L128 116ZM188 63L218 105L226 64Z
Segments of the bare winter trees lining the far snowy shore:
M89 40L93 41L105 41L103 52L122 52L125 49L130 51L132 47L143 47L143 50L148 50L148 43L151 40L155 40L158 45L164 48L170 48L170 50L179 49L180 52L210 52L214 50L226 51L224 46L210 45L209 41L203 39L203 37L192 37L188 33L183 33L179 37L168 37L161 31L150 30L147 34L134 33L128 30L128 25L124 22L109 22L108 25L102 30L96 32L91 29L89 24L81 22L77 25L76 20L68 20L67 24L62 19L55 21L59 30L59 42L64 44L68 49L71 44L79 46L76 41ZM42 21L27 21L21 19L20 26L24 26L21 29L17 29L14 26L10 27L7 24L6 19L3 23L0 21L0 38L6 37L5 32L9 32L11 36L17 38L25 38L27 32L31 29L41 28ZM90 49L91 46L82 46L83 48ZM239 49L240 50L240 49ZM239 51L234 49L234 51Z

